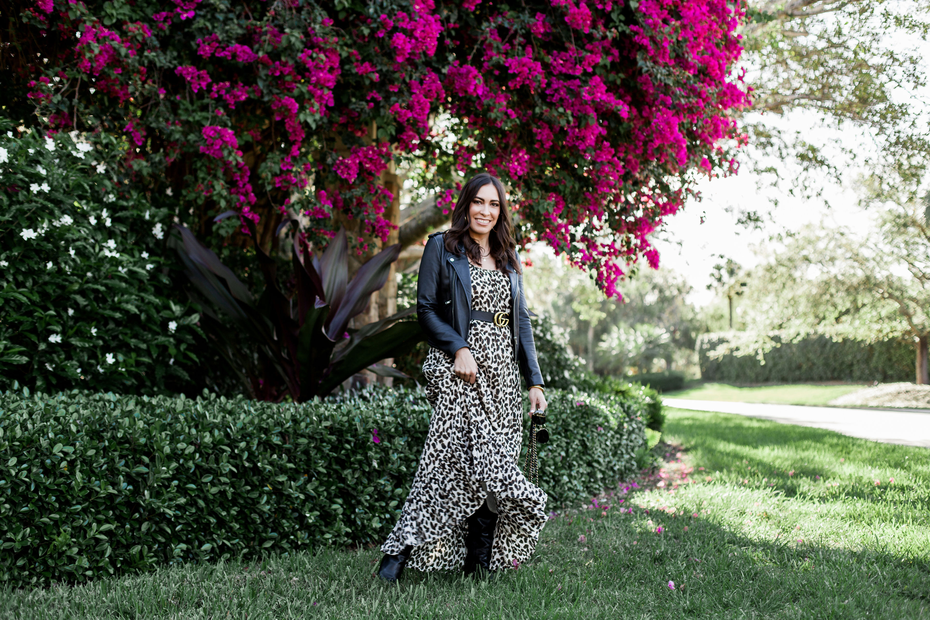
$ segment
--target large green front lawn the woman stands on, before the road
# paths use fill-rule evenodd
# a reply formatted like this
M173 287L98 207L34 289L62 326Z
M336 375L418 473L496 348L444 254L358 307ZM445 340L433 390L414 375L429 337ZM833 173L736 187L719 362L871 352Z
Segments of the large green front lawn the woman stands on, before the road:
M389 586L377 549L324 550L0 590L0 618L930 617L930 451L673 409L666 436L660 474L496 579Z

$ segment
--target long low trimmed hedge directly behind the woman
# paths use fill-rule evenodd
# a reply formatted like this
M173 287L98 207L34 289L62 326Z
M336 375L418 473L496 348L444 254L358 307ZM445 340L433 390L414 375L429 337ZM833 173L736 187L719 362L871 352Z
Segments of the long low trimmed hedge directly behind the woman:
M299 405L23 392L0 395L0 580L16 586L378 544L431 414L409 389ZM552 441L539 461L551 504L634 470L655 402L547 395Z

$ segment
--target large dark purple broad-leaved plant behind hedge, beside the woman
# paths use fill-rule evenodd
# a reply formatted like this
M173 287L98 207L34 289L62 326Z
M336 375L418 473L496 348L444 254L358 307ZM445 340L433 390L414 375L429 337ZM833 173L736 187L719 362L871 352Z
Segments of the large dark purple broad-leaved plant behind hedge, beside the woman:
M230 211L217 219L233 215ZM297 220L286 220L282 228L288 225L298 230ZM305 402L326 396L365 369L405 377L378 362L403 355L424 339L419 323L404 321L416 306L357 329L349 326L387 282L400 244L371 257L350 279L345 229L319 256L295 233L291 264L296 284L289 295L279 284L278 262L257 244L265 288L256 296L193 232L180 224L175 229L172 244L193 284L191 297L203 309L202 327L253 397Z

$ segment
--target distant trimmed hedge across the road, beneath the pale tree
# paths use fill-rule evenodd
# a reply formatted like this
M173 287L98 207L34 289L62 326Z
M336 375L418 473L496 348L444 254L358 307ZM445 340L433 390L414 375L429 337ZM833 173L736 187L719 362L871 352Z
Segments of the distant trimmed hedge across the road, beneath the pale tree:
M697 363L706 381L734 383L788 383L797 381L914 380L914 347L888 340L865 345L855 340L834 342L825 336L784 343L765 353L765 363L754 355L724 355L711 360L708 353L726 342L723 334L697 340Z

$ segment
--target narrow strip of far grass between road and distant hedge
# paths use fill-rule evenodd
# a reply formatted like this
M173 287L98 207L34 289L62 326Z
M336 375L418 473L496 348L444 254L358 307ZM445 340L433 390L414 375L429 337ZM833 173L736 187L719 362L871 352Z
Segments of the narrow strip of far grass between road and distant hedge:
M797 383L783 386L737 388L726 383L704 383L693 389L666 392L669 398L691 398L699 401L774 402L776 404L827 404L863 385L819 386Z

